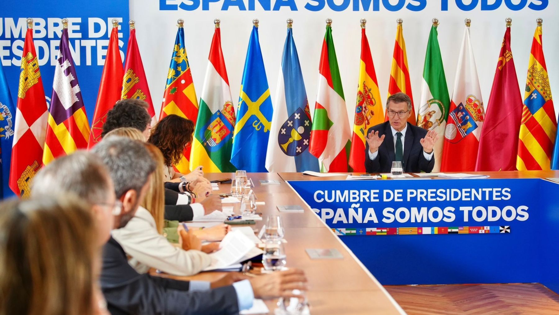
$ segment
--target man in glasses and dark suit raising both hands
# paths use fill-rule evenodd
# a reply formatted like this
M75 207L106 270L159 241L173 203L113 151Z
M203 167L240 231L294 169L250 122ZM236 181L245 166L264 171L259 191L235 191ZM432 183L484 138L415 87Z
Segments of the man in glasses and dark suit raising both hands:
M389 121L367 130L365 168L368 173L390 172L392 162L401 161L404 172L431 172L433 147L438 134L408 123L411 100L395 93L386 100Z

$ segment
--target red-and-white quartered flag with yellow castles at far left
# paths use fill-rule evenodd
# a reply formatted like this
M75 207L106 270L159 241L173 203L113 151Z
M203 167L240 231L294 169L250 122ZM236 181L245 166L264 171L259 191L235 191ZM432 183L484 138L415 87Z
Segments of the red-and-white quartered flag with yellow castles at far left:
M30 195L31 180L42 164L48 110L42 87L39 59L33 44L33 20L27 19L27 33L21 55L20 86L17 91L16 123L12 144L10 188L16 195Z

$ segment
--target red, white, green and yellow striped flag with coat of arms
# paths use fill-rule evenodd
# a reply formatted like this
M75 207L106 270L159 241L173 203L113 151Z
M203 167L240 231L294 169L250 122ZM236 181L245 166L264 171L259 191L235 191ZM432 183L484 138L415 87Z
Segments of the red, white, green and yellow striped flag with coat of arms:
M219 20L216 20L190 156L192 168L201 165L210 173L236 170L230 162L235 107L221 50L220 30Z

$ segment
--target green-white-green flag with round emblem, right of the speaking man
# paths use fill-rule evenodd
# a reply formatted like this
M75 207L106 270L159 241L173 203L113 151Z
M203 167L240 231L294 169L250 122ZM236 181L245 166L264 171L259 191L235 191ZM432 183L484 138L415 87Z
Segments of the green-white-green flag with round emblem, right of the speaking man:
M443 59L440 57L439 40L437 39L437 25L433 22L427 53L425 53L425 65L423 67L423 82L421 82L421 97L418 110L417 125L426 130L435 130L439 139L435 143L434 172L440 170L440 153L443 151L444 128L447 125L448 107L451 100L448 97L447 79L444 76Z

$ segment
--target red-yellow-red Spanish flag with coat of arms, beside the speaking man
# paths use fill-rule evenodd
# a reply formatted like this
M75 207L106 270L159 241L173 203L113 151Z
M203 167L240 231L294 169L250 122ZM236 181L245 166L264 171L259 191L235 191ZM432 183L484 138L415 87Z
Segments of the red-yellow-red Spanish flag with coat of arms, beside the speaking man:
M365 138L367 137L367 130L385 121L375 65L371 57L367 34L365 34L365 23L361 24L361 62L359 64L357 102L353 120L349 165L353 168L353 171L364 173L366 172Z

